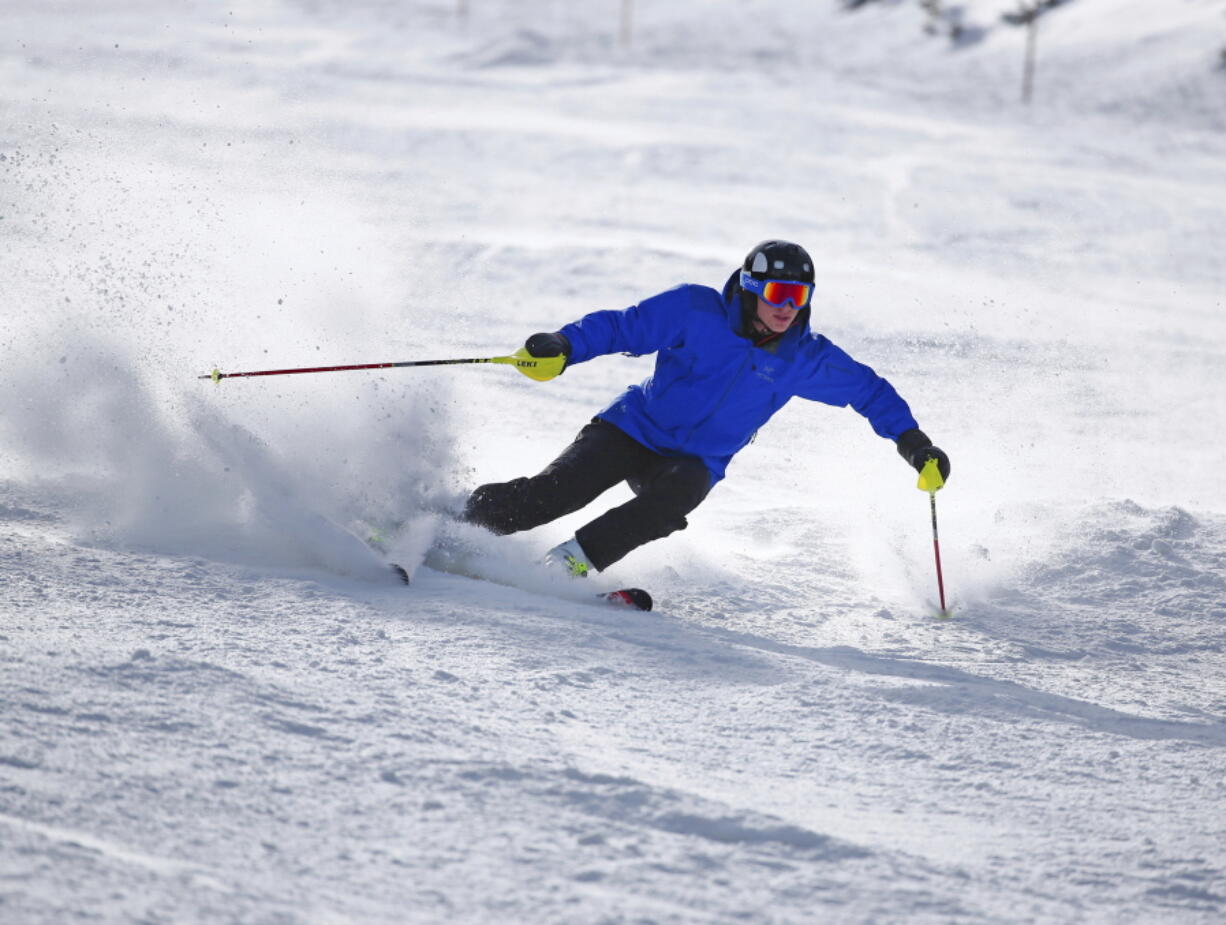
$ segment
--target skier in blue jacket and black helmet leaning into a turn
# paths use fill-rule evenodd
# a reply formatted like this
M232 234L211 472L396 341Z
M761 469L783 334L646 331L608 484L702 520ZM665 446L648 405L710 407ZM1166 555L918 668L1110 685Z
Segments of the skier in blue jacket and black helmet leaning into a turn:
M495 534L548 524L619 482L635 497L549 550L546 562L580 577L687 526L685 515L723 478L732 456L790 399L851 405L897 444L917 470L949 458L920 429L885 379L809 330L815 275L798 244L766 240L717 292L683 285L622 312L593 312L554 332L533 334L533 357L563 369L606 353L656 355L631 385L553 462L531 478L483 485L465 519Z

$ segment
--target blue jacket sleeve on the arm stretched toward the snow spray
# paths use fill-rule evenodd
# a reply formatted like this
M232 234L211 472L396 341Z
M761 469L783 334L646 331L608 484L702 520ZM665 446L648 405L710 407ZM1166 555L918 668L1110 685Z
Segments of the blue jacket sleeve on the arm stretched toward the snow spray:
M592 312L562 329L570 366L606 353L655 353L682 341L693 286L661 292L622 312Z

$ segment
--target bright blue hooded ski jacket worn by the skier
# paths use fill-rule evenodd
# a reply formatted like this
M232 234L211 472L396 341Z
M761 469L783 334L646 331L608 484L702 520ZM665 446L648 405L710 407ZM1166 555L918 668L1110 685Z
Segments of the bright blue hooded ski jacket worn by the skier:
M918 426L893 385L809 330L808 310L774 351L742 336L736 276L722 293L683 285L562 329L571 345L569 366L606 353L656 355L655 372L597 417L664 456L698 456L712 485L793 396L851 405L889 439Z

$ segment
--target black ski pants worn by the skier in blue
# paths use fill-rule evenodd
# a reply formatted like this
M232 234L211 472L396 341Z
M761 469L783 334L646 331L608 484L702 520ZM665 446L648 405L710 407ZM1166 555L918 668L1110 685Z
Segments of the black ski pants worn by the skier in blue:
M477 488L465 519L495 534L531 530L586 507L618 482L629 483L635 497L575 532L597 570L684 530L685 515L711 491L711 474L696 456L662 456L595 417L538 475Z

